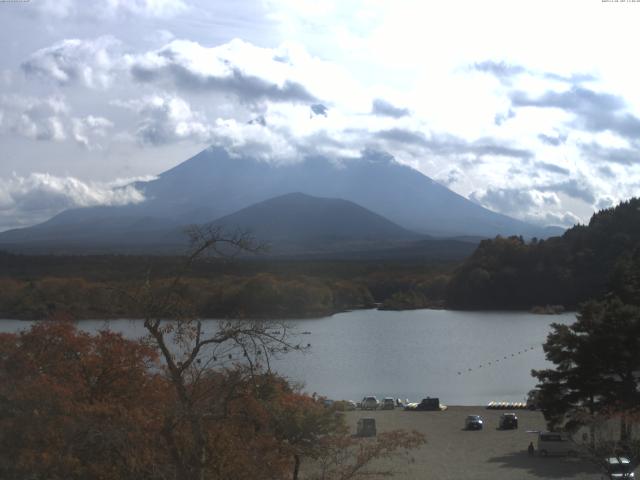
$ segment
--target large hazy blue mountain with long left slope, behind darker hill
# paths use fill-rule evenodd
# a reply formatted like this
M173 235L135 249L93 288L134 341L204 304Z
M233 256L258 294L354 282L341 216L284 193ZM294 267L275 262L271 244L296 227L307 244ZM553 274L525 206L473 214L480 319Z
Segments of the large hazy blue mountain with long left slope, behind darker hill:
M291 192L353 202L404 229L433 236L556 233L487 210L374 152L338 163L312 157L278 166L211 147L135 186L145 201L67 210L40 225L1 233L0 246L166 246L175 242L170 232L178 226L211 222Z

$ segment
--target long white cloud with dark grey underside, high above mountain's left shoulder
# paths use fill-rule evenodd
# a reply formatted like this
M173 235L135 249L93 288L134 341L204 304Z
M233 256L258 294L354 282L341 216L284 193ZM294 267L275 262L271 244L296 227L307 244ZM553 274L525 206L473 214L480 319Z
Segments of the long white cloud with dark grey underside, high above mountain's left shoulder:
M160 50L129 56L128 62L131 75L141 83L231 94L241 103L316 102L301 83L288 78L292 66L274 57L273 50L241 40L212 48L175 40Z

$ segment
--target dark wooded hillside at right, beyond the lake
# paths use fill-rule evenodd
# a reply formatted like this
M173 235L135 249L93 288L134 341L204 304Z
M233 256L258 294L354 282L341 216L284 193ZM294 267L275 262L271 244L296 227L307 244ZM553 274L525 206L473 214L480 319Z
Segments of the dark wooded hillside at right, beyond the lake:
M484 240L457 269L447 305L463 309L576 306L605 294L640 253L640 199L602 210L562 237Z

